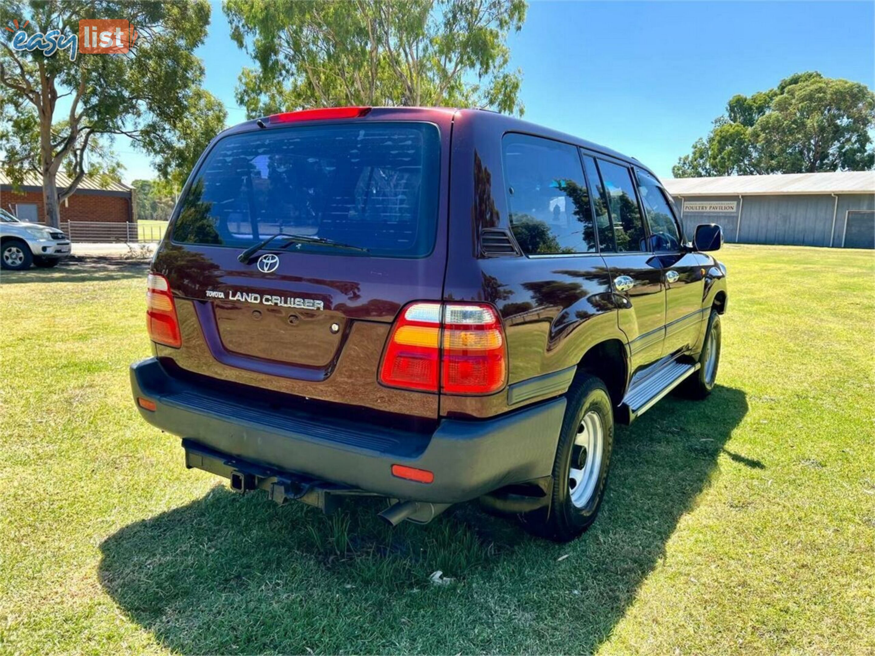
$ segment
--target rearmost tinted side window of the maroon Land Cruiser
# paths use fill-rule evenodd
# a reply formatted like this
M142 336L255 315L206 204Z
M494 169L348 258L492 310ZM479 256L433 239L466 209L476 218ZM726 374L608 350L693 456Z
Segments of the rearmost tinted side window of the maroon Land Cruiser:
M590 198L577 148L536 136L507 135L503 151L510 224L522 251L595 252Z

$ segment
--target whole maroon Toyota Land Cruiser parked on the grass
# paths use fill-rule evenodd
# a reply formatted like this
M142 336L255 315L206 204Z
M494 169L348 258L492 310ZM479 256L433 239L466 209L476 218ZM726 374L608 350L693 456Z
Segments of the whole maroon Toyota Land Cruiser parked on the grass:
M722 241L637 160L493 112L245 122L152 262L134 399L239 492L378 495L393 525L481 499L570 540L614 422L714 386Z

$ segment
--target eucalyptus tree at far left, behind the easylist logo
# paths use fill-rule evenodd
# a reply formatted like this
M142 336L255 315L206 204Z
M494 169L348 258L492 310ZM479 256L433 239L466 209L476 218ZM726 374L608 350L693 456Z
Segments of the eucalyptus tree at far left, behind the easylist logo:
M128 52L81 52L82 44L73 52L79 22L95 19L130 21L137 38ZM32 51L17 49L9 31L0 41L0 151L15 183L28 171L42 177L47 223L59 225L60 203L85 175L117 172L109 148L116 136L153 156L163 177L192 166L225 122L221 102L201 87L204 66L194 54L209 21L207 0L0 0L0 25L44 35ZM42 49L58 38L66 48ZM62 189L59 171L71 178Z

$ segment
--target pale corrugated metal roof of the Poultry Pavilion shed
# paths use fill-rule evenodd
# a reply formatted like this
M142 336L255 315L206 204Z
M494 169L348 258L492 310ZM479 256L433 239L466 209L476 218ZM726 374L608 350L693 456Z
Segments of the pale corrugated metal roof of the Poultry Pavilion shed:
M767 176L668 178L672 196L774 196L782 193L875 193L875 171L784 173Z

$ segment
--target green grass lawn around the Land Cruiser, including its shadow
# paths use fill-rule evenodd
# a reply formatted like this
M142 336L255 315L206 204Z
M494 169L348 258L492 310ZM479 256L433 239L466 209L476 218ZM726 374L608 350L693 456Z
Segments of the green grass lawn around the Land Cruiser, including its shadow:
M718 388L620 427L568 545L232 494L131 402L144 265L4 272L0 653L875 652L875 254L720 256Z

